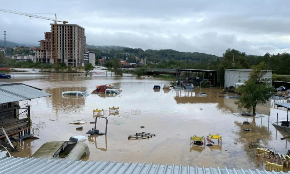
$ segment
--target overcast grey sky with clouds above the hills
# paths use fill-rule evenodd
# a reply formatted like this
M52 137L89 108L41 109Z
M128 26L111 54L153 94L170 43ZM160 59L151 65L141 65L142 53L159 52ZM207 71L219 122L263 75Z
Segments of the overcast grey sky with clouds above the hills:
M2 0L0 6L25 13L57 13L59 20L85 28L88 45L218 56L234 46L254 55L290 52L289 7L289 0ZM54 18L54 14L36 15ZM7 31L8 41L38 45L50 23L0 11L0 31Z

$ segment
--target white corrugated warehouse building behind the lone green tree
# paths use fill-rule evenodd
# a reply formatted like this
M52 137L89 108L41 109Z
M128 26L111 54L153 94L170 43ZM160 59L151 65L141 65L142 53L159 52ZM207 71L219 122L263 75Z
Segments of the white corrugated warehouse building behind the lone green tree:
M244 83L248 80L253 70L224 70L224 87L234 86L235 83ZM272 70L268 70L264 78L270 78L272 82Z

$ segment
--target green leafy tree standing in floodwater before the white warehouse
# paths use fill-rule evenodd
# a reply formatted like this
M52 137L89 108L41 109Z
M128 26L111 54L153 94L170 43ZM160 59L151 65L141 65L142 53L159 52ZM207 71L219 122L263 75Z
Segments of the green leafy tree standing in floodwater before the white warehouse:
M267 73L267 70L264 70L265 66L264 62L253 66L249 79L244 82L244 85L237 88L237 92L242 95L236 104L242 108L252 109L253 116L255 115L257 104L266 103L272 96L271 92L273 92L270 79L263 77Z

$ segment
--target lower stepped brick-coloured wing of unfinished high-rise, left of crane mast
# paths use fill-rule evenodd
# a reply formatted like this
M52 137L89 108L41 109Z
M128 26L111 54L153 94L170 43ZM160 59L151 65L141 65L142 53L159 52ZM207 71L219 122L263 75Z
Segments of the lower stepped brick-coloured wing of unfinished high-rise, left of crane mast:
M39 41L40 47L35 49L35 60L40 63L53 63L51 32L44 33L44 40Z

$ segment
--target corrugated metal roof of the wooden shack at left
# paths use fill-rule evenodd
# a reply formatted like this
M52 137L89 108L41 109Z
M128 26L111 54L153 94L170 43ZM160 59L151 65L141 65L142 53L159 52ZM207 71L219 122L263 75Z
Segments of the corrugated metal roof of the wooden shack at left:
M0 103L17 102L39 97L50 96L51 94L32 88L21 83L1 83Z

